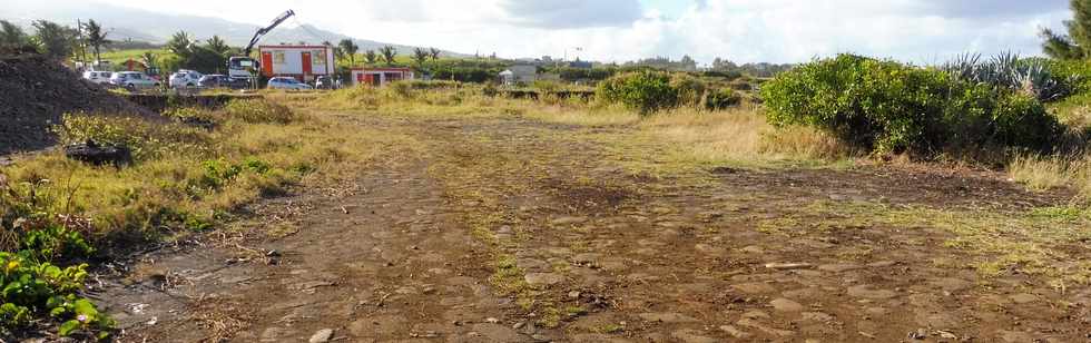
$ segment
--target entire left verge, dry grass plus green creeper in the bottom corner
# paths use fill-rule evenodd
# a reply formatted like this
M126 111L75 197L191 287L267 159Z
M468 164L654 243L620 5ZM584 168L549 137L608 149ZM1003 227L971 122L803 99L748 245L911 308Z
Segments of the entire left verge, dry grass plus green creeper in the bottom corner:
M76 337L107 334L108 320L78 295L82 262L220 226L258 198L350 179L414 148L391 128L263 100L165 117L73 114L56 127L65 143L124 145L128 163L96 166L58 150L0 168L0 335L43 325Z

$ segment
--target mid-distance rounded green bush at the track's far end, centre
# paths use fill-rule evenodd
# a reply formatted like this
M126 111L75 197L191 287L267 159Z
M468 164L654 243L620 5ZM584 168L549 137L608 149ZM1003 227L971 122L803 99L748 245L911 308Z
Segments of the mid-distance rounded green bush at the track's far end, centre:
M637 71L609 78L599 85L596 97L622 104L642 116L678 105L678 90L670 85L670 74L664 71Z

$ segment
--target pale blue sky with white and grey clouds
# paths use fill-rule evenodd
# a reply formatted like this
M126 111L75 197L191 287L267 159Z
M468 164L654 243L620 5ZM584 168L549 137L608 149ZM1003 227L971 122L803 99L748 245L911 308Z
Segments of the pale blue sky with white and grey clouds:
M48 2L49 0L47 0ZM53 0L57 1L57 0ZM1068 0L100 0L265 24L286 9L355 38L502 57L800 62L839 52L935 63L1041 52Z

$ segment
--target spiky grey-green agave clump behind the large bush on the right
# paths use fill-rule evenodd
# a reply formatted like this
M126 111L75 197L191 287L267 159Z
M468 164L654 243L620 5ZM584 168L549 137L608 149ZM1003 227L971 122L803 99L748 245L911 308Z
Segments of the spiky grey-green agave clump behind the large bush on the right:
M1014 52L1001 52L989 60L979 53L964 53L941 66L955 78L1023 91L1041 101L1060 99L1071 91L1075 76L1063 78L1050 72L1042 59L1023 59Z

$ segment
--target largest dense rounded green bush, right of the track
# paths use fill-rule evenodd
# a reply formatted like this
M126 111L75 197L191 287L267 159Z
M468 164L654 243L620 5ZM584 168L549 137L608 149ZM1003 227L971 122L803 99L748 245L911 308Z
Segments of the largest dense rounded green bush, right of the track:
M1056 119L1025 94L851 55L780 74L761 97L774 125L817 127L876 153L1044 150L1058 131Z

